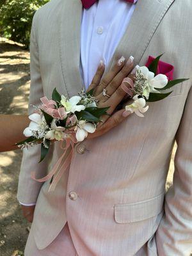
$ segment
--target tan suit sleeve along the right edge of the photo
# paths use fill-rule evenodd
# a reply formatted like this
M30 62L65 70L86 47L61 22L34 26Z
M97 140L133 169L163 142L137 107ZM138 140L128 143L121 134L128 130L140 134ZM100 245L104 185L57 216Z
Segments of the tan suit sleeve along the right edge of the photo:
M156 233L161 256L192 252L192 88L176 135L173 186L166 193L164 217Z

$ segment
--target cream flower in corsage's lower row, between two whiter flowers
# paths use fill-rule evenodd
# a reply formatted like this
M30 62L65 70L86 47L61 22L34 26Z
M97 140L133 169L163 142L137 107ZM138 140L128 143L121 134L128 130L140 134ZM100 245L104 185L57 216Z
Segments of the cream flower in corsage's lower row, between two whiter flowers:
M51 122L51 130L47 132L45 135L45 139L47 140L63 140L64 134L64 127L56 125L56 119L54 118Z

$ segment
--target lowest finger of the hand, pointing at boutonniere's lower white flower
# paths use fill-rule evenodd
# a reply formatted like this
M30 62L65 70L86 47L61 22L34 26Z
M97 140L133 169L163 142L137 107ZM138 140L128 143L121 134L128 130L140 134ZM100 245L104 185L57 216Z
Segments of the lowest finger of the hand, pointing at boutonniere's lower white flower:
M108 119L106 123L104 123L99 129L97 129L95 133L89 134L88 138L95 138L105 134L117 125L124 122L124 120L127 119L129 115L131 115L131 113L129 111L125 111L125 109L117 111L113 116Z

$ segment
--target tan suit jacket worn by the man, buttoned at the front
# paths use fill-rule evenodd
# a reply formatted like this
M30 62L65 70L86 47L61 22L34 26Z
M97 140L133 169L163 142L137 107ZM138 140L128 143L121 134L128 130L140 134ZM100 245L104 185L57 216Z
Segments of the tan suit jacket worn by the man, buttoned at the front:
M82 88L79 73L80 0L52 0L33 19L29 104L51 98L54 87L69 97ZM38 164L39 146L24 151L18 199L36 202L33 229L45 248L68 221L79 256L189 255L192 248L192 1L139 0L111 65L134 56L145 65L149 55L165 52L175 77L190 77L145 118L131 115L100 138L76 146L55 191L49 181L31 180L49 172L61 155L54 143ZM110 66L111 66L110 65ZM33 109L29 108L29 113ZM178 143L172 188L165 183L175 138ZM85 147L79 154L79 147ZM76 200L69 193L74 191Z

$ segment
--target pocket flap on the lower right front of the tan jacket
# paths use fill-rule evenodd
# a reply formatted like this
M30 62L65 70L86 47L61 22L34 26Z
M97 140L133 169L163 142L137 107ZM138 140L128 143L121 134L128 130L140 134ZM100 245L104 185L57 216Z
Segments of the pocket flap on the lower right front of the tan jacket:
M162 211L164 193L154 198L132 204L115 204L115 221L131 223L152 218Z

